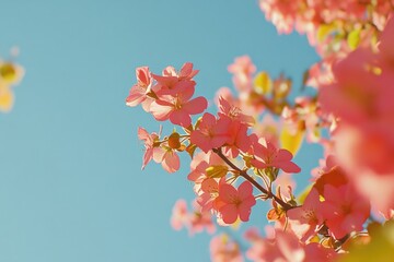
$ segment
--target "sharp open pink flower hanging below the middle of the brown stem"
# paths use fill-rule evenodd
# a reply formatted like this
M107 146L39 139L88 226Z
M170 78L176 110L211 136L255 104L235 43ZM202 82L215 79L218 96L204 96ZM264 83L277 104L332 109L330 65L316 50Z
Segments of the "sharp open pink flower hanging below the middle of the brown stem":
M248 181L241 183L237 190L228 183L220 184L219 199L223 202L219 213L225 224L233 224L237 217L247 222L251 209L256 204L253 187Z

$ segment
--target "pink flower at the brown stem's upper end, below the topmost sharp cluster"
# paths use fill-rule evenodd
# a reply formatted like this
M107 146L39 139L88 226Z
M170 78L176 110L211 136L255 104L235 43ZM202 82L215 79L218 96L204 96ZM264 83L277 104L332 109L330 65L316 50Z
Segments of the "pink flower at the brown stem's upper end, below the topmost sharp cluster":
M205 153L211 148L222 146L229 140L228 128L230 122L228 118L217 120L213 115L204 114L198 129L190 134L192 143L196 144Z

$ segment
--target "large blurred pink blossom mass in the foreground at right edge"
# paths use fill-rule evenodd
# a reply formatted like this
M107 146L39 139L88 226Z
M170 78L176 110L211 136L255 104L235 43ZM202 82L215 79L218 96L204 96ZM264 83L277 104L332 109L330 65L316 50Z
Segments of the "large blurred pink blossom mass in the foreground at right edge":
M375 48L360 47L333 68L321 87L323 110L333 114L334 152L374 210L394 210L394 20Z

